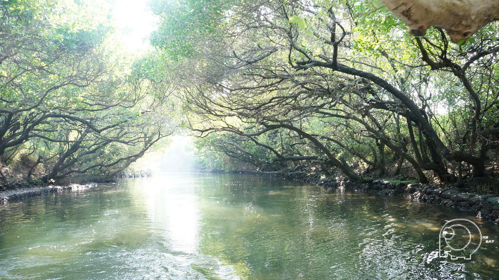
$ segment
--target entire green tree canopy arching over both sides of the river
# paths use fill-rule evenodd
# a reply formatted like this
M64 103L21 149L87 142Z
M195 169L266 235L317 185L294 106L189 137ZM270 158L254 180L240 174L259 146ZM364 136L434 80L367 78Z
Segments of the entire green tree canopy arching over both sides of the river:
M183 130L203 168L496 176L497 21L454 43L439 26L413 36L377 0L150 6L153 48L131 58L85 1L2 2L3 164L112 177Z

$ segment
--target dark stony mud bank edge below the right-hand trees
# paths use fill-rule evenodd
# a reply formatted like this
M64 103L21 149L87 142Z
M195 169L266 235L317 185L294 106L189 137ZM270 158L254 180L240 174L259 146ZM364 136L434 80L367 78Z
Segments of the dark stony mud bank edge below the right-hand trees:
M262 172L234 171L237 173L272 176L288 180L297 180L326 188L345 188L353 191L398 195L423 202L430 202L468 211L477 217L499 223L499 197L492 194L460 192L444 185L421 185L409 181L374 180L372 183L357 183L345 178L324 177L307 172Z

